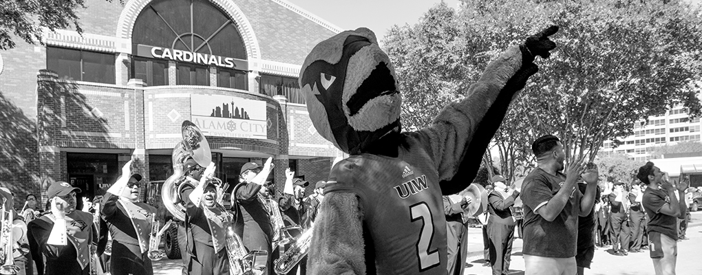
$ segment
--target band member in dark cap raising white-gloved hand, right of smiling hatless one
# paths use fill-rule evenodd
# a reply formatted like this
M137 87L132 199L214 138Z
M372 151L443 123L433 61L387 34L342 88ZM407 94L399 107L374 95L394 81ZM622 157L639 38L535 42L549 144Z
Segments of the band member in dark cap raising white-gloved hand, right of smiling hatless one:
M248 162L241 167L239 185L232 192L232 204L237 216L234 222L234 233L241 236L244 246L251 250L263 250L268 253L265 257L263 274L272 272L272 239L273 225L270 222L265 203L259 194L267 192L266 179L272 170L272 158L268 158L263 166Z

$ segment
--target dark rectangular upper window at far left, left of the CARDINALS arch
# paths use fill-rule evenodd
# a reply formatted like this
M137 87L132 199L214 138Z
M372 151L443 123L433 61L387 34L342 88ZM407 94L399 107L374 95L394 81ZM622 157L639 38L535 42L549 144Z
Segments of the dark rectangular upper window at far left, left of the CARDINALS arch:
M46 69L60 79L114 84L114 54L46 47Z

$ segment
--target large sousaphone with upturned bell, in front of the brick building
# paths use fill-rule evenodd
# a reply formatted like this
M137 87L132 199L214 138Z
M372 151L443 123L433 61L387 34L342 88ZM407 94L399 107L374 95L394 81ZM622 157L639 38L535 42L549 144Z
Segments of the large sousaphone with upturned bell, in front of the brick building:
M188 184L185 177L185 161L192 158L199 166L207 167L212 161L212 154L205 136L194 123L183 121L180 130L183 140L173 148L173 175L168 177L161 187L161 196L166 210L176 219L185 221L185 206L180 199L180 188Z

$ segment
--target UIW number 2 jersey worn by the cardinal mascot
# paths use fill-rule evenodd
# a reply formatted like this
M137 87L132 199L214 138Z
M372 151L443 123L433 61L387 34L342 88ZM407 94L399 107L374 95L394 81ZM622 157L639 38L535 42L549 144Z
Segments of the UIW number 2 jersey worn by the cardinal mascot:
M397 158L360 154L331 170L324 193L359 196L366 253L378 274L446 274L446 220L439 177L420 135L404 135ZM371 262L367 264L373 264Z

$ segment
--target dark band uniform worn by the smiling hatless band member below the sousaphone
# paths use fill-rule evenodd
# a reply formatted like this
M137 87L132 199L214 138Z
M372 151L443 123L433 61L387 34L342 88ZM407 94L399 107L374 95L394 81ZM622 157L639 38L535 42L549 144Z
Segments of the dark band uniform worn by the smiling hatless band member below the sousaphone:
M229 274L227 257L227 228L232 226L232 214L223 206L209 209L195 206L190 201L194 187L187 185L180 191L186 208L187 271L193 275Z

